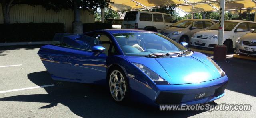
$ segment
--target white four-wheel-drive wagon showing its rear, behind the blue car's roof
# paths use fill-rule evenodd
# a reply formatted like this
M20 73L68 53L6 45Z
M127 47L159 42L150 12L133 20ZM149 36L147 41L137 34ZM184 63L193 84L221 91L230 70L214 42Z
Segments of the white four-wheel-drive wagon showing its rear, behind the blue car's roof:
M143 29L147 31L159 31L169 27L174 19L169 14L160 12L130 11L126 12L122 29Z

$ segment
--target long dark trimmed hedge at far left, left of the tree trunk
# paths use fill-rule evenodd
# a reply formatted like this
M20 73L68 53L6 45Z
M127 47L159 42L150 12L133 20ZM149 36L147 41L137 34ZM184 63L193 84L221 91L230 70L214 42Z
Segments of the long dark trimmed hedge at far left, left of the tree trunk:
M60 32L64 32L63 23L0 24L0 42L52 41Z

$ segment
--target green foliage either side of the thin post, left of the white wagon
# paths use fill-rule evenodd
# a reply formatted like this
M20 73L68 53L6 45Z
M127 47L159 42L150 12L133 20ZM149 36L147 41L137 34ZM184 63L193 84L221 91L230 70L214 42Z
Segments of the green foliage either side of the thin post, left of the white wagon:
M104 9L104 17L105 17L105 19L108 19L108 18L118 19L119 14L112 9ZM94 18L95 18L95 21L101 21L100 10L97 10L97 12L94 13Z

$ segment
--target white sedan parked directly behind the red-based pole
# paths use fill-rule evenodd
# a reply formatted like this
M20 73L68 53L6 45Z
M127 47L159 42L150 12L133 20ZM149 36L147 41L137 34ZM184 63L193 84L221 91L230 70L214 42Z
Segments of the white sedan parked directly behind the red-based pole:
M230 51L234 48L236 39L256 28L256 22L229 20L224 21L223 44ZM219 23L216 23L204 31L197 32L191 38L190 44L197 47L213 48L218 44Z

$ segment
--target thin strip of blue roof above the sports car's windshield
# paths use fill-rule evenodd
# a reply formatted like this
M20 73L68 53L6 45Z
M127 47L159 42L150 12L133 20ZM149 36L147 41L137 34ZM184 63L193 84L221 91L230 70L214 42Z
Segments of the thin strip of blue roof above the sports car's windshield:
M108 32L110 34L117 33L152 33L153 31L145 31L145 30L136 30L136 29L104 29L103 31ZM155 32L153 32L155 33Z

